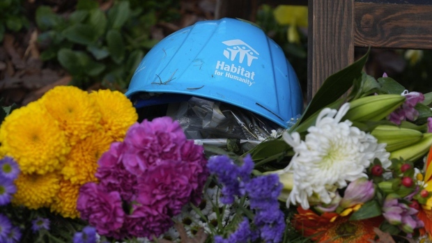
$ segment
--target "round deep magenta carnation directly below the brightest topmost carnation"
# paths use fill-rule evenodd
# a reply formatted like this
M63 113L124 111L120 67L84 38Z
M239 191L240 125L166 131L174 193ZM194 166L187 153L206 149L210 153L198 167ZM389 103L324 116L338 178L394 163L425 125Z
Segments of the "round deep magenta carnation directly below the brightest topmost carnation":
M187 164L165 161L139 177L137 201L161 214L175 216L190 201L191 177Z

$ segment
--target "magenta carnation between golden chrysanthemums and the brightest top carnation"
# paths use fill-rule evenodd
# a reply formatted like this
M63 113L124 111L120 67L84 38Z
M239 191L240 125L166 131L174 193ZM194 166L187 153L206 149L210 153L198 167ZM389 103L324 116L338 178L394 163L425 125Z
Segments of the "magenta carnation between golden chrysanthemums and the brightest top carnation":
M137 195L137 175L125 169L122 162L124 143L111 143L111 147L100 157L98 171L95 176L99 179L100 187L105 191L118 191L124 201L135 200Z

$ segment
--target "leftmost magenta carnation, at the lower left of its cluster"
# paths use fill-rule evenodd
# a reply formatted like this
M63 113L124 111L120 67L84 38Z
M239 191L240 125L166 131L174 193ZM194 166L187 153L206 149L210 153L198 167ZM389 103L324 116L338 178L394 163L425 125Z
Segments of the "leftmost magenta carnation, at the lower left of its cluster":
M79 189L77 210L81 218L95 226L100 235L111 236L123 226L125 212L118 191L103 191L93 182Z

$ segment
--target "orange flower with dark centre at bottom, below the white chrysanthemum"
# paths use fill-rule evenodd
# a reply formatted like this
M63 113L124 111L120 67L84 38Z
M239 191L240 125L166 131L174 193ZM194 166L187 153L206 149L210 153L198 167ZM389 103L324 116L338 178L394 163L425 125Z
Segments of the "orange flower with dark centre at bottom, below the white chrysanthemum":
M382 217L356 221L348 219L334 212L318 215L298 207L298 214L294 214L291 223L305 237L311 237L316 242L363 243L376 237L373 228L378 228L383 221Z

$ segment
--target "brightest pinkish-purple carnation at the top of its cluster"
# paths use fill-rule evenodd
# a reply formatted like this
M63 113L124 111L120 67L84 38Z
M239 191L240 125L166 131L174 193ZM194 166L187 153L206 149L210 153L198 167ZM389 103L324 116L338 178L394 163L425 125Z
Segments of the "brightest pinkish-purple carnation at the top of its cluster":
M181 160L180 149L186 136L177 120L168 116L132 125L125 136L123 164L140 175L161 160Z

